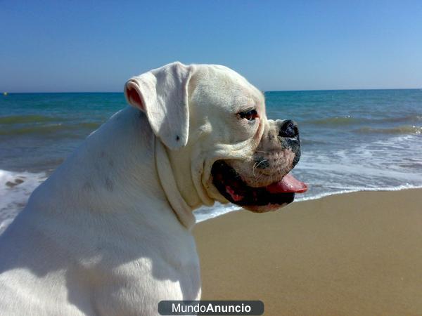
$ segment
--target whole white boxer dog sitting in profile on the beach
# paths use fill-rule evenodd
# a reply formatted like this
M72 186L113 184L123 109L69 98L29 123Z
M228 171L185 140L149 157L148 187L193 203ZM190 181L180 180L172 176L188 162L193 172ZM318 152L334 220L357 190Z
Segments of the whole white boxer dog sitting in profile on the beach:
M1 315L158 315L200 299L193 209L279 209L306 185L293 121L219 65L127 81L117 112L32 193L1 236Z

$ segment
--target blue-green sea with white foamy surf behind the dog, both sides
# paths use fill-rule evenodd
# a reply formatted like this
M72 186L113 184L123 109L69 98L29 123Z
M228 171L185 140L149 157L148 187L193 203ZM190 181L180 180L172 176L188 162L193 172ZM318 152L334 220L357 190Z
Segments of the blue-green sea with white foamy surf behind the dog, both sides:
M268 91L269 119L293 119L309 190L295 201L365 190L422 187L422 89ZM0 233L31 192L113 113L122 93L0 96ZM239 208L215 204L198 221Z

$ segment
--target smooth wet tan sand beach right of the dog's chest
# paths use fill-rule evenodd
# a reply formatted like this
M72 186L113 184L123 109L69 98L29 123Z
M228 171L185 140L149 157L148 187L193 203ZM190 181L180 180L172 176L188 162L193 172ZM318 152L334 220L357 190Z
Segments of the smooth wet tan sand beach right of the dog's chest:
M205 300L264 315L422 315L422 190L356 192L194 228Z

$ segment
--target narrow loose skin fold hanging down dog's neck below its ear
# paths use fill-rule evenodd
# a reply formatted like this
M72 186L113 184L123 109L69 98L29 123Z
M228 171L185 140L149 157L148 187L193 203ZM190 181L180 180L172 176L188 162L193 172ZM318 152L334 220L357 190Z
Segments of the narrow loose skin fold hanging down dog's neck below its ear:
M190 230L196 222L192 213L193 209L188 206L179 192L167 151L158 138L155 138L155 163L162 189L174 213L176 213L180 223Z

